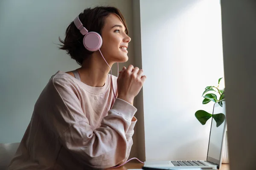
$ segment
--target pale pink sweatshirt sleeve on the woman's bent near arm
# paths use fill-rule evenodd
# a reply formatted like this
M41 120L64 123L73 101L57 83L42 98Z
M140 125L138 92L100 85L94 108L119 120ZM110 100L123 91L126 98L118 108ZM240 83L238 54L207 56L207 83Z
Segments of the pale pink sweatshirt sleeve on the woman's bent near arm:
M74 93L76 88L72 83L67 85L67 81L56 79L53 78L52 97L48 101L52 113L45 119L63 147L81 164L93 168L112 167L126 159L132 145L128 130L137 109L116 99L101 126L93 130Z

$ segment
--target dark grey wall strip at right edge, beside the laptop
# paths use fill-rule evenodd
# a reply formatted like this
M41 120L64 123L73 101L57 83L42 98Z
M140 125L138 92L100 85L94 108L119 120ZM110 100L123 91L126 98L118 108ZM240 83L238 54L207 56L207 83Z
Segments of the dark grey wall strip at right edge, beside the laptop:
M221 0L230 170L255 170L256 1Z

